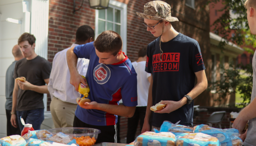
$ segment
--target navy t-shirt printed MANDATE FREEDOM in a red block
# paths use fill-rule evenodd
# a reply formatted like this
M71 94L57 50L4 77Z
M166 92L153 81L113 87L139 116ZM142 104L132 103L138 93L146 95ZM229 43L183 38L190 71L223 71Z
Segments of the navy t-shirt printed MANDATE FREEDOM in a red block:
M159 37L148 44L145 71L152 73L152 103L161 100L179 101L195 86L195 72L205 70L199 44L196 40L179 33L168 42L161 42L163 50L160 60ZM190 126L193 123L193 105L185 104L171 113L153 113L152 126L160 127L165 120Z

